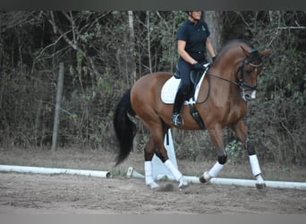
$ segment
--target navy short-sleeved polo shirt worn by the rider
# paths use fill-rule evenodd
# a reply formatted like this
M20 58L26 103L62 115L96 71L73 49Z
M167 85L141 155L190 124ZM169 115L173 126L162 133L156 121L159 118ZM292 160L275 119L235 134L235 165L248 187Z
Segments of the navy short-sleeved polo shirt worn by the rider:
M179 27L176 39L186 41L185 50L195 60L205 60L206 52L206 39L209 37L210 32L206 22L199 21L197 23L187 20Z

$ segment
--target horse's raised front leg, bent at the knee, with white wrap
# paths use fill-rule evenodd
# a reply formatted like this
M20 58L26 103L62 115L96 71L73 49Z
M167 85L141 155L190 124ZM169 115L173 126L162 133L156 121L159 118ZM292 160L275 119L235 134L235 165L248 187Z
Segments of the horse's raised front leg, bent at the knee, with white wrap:
M212 177L217 177L218 173L224 167L227 160L227 154L224 147L223 136L222 136L222 127L216 125L215 128L209 129L208 133L210 135L211 141L215 144L217 148L217 162L215 165L210 168L209 171L204 172L200 177L201 183L208 182Z

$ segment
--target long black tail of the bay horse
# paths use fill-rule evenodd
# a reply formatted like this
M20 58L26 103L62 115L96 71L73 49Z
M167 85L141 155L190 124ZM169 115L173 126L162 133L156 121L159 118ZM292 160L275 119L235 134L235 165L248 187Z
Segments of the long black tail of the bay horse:
M135 116L130 96L131 89L124 93L123 98L120 99L117 108L115 108L114 128L120 145L120 151L115 165L118 165L128 157L132 151L132 142L136 134L136 125L128 116L128 114Z

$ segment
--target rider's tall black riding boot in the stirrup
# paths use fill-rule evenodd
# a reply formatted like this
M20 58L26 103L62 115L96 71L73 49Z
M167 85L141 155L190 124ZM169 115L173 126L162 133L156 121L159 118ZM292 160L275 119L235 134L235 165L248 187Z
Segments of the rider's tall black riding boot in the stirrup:
M176 92L176 96L174 99L174 109L171 118L171 123L176 126L183 125L183 117L181 115L181 110L185 99L186 99L186 94L183 92L182 88L179 88Z

